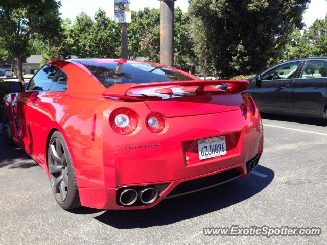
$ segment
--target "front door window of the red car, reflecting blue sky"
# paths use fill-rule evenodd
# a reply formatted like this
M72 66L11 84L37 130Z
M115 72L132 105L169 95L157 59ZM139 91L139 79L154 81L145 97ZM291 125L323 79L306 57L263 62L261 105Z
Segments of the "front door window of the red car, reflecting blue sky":
M53 65L44 65L31 79L27 90L48 91L58 69L58 67Z

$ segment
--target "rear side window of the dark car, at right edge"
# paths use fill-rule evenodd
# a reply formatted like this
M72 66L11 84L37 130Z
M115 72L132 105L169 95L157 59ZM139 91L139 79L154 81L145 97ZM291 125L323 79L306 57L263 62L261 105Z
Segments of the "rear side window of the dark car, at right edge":
M301 78L326 78L327 77L327 61L309 60L307 61Z

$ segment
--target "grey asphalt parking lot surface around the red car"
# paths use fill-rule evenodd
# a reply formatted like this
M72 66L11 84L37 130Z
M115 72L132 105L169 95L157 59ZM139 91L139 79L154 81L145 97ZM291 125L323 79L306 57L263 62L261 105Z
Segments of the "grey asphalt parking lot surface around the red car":
M45 173L0 140L0 244L327 244L327 127L263 115L260 165L244 179L149 210L67 212ZM320 236L204 236L204 227L320 227Z

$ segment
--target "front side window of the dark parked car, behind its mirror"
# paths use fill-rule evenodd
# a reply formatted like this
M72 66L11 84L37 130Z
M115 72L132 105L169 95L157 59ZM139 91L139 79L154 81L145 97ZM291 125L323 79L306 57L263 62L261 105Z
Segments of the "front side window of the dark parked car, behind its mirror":
M278 80L278 79L291 79L293 78L300 61L290 62L279 65L272 70L269 70L263 75L263 80Z

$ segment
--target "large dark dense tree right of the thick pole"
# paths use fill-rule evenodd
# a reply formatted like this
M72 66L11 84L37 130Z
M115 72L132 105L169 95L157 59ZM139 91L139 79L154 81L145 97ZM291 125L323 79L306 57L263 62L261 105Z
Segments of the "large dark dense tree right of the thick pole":
M310 0L192 0L191 35L199 69L249 75L283 54Z

